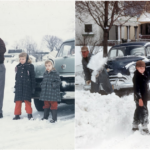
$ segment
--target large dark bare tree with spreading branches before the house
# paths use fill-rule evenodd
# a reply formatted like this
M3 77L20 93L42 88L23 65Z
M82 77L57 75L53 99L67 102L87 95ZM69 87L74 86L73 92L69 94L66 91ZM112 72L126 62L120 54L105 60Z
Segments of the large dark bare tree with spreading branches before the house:
M84 22L90 16L103 30L103 56L107 56L108 33L120 18L124 21L143 12L144 1L76 1L76 17Z

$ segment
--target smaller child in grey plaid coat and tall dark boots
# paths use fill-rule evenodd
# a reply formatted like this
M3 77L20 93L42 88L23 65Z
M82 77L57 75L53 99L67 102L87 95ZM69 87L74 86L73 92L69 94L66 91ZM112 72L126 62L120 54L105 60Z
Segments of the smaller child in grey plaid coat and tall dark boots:
M44 101L44 116L42 120L48 119L49 111L51 109L52 120L51 123L57 121L57 105L60 98L60 77L58 72L54 68L54 61L52 59L45 62L46 71L43 75L43 81L41 83L40 100Z

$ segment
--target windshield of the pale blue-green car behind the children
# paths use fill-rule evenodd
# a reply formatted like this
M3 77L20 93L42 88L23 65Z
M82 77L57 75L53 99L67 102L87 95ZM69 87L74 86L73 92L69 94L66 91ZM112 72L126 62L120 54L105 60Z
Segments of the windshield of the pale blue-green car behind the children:
M67 42L61 46L57 57L72 56L74 54L75 54L74 42Z

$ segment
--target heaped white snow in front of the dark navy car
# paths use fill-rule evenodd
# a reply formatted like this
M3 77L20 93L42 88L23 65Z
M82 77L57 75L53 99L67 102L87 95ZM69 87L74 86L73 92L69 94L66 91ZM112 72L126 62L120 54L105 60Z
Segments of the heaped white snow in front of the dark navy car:
M80 90L75 107L76 148L150 148L148 137L131 130L133 95L119 98Z

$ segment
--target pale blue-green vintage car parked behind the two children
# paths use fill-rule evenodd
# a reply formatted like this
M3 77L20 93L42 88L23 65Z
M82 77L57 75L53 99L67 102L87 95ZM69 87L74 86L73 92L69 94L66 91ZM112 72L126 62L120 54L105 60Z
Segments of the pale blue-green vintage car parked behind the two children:
M74 104L75 98L75 45L74 39L63 42L60 47L55 62L55 69L59 72L61 78L60 95L61 103ZM45 72L45 62L38 62L34 64L36 88L33 95L34 104L38 111L43 110L43 101L39 100L41 92L41 82L43 80L43 74Z

